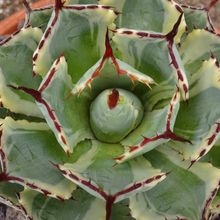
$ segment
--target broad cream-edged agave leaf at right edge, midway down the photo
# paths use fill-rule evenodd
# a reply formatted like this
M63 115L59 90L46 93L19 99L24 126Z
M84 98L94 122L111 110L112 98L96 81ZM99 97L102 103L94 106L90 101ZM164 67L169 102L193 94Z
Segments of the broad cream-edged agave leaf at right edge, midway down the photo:
M190 79L189 103L181 102L180 105L174 131L192 143L173 143L172 146L192 164L208 153L219 136L219 73L215 59L204 61Z

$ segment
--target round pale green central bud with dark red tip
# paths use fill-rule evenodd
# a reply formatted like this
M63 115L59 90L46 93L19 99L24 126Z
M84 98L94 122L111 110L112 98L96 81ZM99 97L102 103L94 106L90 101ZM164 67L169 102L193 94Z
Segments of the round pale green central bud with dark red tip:
M133 93L124 89L106 89L90 106L93 133L100 141L118 143L139 125L143 109Z

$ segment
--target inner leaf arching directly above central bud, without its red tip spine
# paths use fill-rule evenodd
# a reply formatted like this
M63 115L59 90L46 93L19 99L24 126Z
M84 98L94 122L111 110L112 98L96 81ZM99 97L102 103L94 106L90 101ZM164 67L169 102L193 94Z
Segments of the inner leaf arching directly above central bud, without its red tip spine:
M80 97L81 92L85 89L94 98L104 89L121 88L132 91L145 103L146 93L149 91L149 87L154 84L154 80L147 73L143 74L118 59L115 62L119 69L110 58L107 58L97 76L93 76L101 66L102 59L99 60L74 85L71 93Z

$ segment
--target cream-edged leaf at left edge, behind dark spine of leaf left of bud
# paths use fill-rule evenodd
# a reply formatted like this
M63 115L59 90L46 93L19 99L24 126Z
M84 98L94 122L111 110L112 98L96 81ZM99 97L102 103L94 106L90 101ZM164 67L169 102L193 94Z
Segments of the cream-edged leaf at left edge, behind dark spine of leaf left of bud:
M21 29L7 38L0 47L0 96L1 104L13 112L42 117L34 100L24 93L12 90L8 84L37 88L39 76L32 76L32 54L42 36L38 28Z

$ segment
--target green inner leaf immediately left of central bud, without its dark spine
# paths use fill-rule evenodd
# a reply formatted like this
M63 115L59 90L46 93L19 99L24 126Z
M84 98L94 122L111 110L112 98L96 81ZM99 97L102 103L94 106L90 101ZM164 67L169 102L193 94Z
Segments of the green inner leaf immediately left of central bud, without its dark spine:
M80 141L93 138L89 123L91 98L86 95L70 96L72 88L73 84L67 73L67 63L64 57L60 57L39 87L41 97L53 111L55 119L51 117L51 112L48 111L45 103L38 102L38 106L66 152L72 152Z

